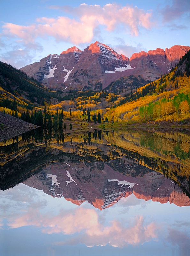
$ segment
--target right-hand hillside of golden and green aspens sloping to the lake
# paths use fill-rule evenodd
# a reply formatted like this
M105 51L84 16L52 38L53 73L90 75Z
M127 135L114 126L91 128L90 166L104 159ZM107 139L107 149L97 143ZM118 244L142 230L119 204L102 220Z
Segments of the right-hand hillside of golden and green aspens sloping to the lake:
M129 102L106 111L112 122L145 123L190 118L190 51L167 75L134 92Z

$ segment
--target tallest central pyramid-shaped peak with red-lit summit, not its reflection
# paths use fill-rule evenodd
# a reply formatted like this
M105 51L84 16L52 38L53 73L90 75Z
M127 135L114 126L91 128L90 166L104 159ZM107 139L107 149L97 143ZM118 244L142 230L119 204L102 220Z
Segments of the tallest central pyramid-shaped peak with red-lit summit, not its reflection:
M83 90L101 90L105 84L108 85L109 82L106 80L110 74L129 67L127 57L119 55L109 46L96 41L84 50L65 85L70 89L77 87Z

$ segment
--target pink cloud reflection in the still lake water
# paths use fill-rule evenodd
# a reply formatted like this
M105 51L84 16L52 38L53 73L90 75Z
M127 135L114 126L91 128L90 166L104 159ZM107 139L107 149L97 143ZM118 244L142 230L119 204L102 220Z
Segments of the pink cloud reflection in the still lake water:
M83 243L89 247L106 244L114 247L143 244L156 240L158 236L157 225L154 222L145 224L142 216L137 217L129 227L125 227L117 220L111 221L110 225L104 225L99 221L95 209L82 207L75 209L72 213L60 213L57 216L43 215L36 209L29 209L27 213L9 223L10 228L29 225L42 228L42 232L47 234L75 234L75 239L67 241L66 244Z

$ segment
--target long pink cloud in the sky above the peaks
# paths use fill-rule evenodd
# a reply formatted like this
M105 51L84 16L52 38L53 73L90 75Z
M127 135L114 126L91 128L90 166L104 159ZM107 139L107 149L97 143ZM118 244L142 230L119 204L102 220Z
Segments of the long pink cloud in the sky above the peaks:
M150 12L129 5L121 7L118 4L106 4L101 7L80 4L77 8L69 8L69 11L77 15L77 19L42 17L37 18L36 23L29 26L5 23L4 33L19 37L25 43L34 42L37 37L53 36L58 41L84 44L91 42L101 25L108 31L122 27L125 32L129 30L134 36L138 36L141 27L149 29L153 25Z

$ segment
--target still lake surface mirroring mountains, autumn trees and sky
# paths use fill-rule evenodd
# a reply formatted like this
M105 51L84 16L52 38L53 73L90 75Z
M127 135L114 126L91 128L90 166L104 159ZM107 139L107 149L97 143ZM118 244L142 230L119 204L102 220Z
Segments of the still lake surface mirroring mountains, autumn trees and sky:
M135 130L0 142L1 254L188 255L189 145Z

